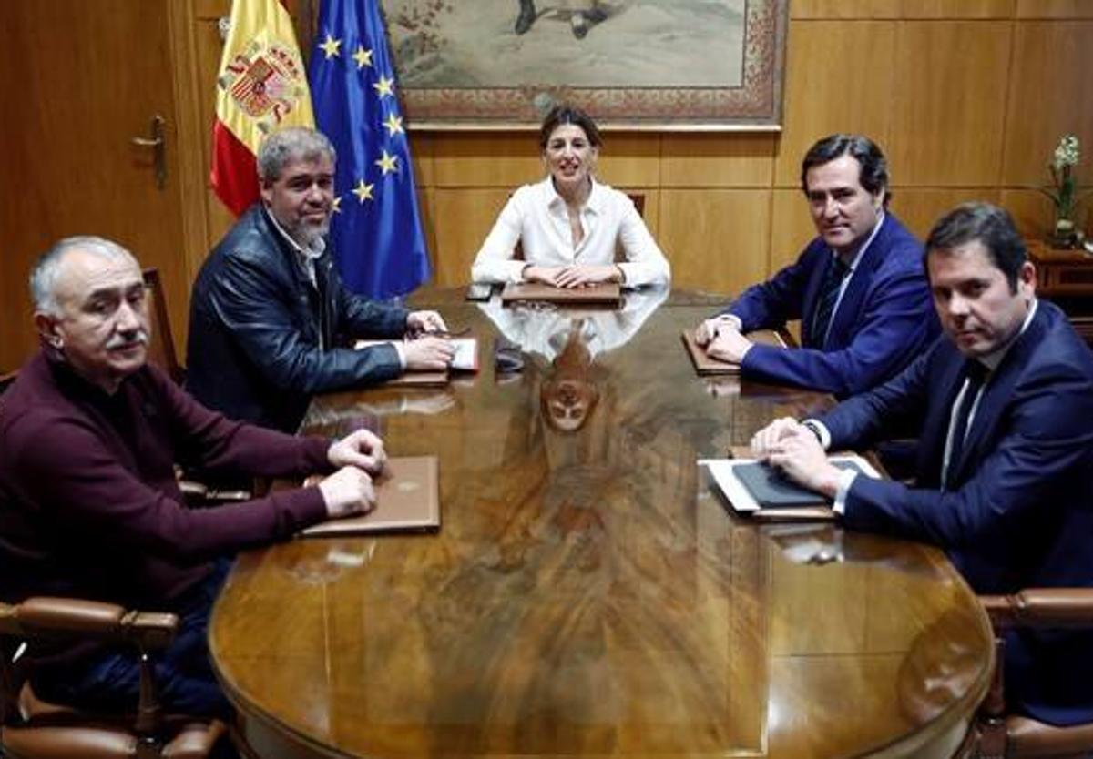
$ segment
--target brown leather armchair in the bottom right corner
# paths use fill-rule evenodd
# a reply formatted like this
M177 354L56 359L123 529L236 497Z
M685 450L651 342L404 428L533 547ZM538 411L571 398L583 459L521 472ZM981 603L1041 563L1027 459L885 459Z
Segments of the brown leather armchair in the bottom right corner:
M974 756L983 759L1065 759L1093 755L1093 724L1056 727L1027 716L1006 713L1001 663L1006 630L1023 628L1093 628L1093 588L1025 590L1014 595L985 595L979 601L999 638L995 675L979 708Z

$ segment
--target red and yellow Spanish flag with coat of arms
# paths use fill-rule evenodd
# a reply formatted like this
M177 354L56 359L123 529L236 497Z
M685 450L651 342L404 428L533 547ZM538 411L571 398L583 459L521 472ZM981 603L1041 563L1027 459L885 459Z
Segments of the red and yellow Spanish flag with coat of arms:
M315 127L292 19L278 0L234 0L216 74L211 179L236 216L258 200L262 138L282 127Z

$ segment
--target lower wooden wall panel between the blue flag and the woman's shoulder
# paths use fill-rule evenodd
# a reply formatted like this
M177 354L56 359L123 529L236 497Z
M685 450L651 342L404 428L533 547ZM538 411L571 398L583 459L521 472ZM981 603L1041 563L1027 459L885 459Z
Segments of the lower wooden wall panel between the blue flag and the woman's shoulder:
M436 235L436 271L439 286L461 285L471 278L471 263L493 228L508 189L434 188L433 228Z

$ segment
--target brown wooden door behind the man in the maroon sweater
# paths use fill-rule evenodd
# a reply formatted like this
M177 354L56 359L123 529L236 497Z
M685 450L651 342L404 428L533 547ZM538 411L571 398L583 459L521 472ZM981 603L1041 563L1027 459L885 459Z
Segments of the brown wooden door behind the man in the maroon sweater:
M169 0L0 3L0 371L36 347L26 278L57 239L109 237L160 270L176 336L183 250ZM156 182L150 123L163 119Z

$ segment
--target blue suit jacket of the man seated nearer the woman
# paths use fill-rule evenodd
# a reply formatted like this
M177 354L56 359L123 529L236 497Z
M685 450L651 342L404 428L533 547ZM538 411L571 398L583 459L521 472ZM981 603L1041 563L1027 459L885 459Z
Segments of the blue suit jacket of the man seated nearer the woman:
M889 379L937 336L922 246L889 213L846 286L826 342L812 345L807 335L831 256L818 237L796 263L749 287L726 311L744 332L801 319L801 349L755 345L744 356L745 376L846 396Z

